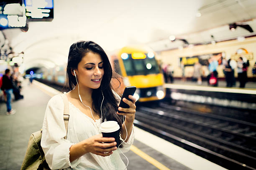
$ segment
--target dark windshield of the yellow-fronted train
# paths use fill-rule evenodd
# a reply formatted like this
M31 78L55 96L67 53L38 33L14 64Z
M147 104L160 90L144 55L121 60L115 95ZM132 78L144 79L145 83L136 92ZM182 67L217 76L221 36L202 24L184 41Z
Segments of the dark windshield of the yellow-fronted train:
M128 54L128 58L123 60L123 63L127 75L148 75L160 72L155 57L133 59L131 54Z

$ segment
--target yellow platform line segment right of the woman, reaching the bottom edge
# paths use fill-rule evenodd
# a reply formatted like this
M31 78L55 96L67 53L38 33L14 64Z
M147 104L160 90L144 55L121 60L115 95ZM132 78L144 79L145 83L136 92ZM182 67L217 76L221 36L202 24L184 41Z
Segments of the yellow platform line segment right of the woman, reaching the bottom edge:
M136 153L137 155L139 155L141 158L143 158L144 160L148 161L149 163L151 163L152 165L154 165L156 168L158 168L159 170L170 170L169 168L167 168L166 166L164 166L163 164L159 163L157 160L155 160L154 158L152 158L151 156L148 156L146 153L142 152L141 150L139 150L136 146L131 145L131 151L133 151L134 153Z

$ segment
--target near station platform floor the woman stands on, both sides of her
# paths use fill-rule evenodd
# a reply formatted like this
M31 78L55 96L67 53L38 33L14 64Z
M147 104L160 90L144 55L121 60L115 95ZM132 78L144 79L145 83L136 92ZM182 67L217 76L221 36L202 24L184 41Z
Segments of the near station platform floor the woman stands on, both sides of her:
M60 93L40 82L25 80L24 99L12 103L17 112L6 115L0 103L0 170L20 170L31 133L40 130L49 99ZM128 153L128 170L225 170L204 158L135 127L135 141ZM125 164L127 160L122 156Z

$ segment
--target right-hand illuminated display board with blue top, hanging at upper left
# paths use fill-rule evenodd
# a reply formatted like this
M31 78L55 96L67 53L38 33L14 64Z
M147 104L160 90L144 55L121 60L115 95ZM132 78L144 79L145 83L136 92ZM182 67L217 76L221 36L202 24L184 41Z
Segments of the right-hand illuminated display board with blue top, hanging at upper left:
M54 18L53 0L24 0L28 21L51 21Z

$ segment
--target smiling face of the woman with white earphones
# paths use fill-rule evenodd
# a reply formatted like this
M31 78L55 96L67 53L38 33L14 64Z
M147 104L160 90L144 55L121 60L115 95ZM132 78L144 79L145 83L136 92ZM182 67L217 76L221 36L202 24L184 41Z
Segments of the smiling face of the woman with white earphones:
M103 60L99 54L88 52L82 57L75 71L80 87L97 89L104 75Z

